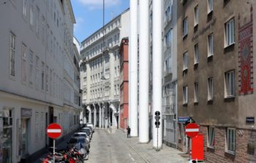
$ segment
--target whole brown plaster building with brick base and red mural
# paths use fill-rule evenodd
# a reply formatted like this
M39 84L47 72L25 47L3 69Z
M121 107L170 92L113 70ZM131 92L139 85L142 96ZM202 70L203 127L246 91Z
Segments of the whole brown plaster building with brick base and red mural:
M207 162L255 162L255 1L178 4L178 148L184 121L204 136Z

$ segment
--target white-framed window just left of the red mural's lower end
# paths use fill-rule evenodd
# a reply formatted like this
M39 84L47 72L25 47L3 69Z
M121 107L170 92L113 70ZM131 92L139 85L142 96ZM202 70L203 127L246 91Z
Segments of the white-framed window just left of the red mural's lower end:
M235 96L235 71L225 72L225 97Z

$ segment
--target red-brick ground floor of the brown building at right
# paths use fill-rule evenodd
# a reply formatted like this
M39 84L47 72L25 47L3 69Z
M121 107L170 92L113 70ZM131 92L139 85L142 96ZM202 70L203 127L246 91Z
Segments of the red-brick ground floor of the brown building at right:
M206 162L256 162L256 130L230 126L200 126ZM178 123L178 149L189 152L185 124Z

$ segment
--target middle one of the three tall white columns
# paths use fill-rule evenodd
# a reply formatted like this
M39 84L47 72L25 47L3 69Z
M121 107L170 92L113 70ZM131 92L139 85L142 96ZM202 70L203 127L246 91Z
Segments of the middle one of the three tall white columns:
M140 1L140 87L139 87L139 141L140 143L148 143L149 141L149 124L148 124L148 51L149 51L149 39L148 39L148 0Z

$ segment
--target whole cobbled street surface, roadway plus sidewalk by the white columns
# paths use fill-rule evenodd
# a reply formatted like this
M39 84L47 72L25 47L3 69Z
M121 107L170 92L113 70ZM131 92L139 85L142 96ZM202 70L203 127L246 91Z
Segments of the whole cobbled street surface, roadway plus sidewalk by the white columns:
M127 138L119 129L95 129L89 154L90 163L183 163L181 152L163 145L155 151L152 143L138 143L138 137Z

